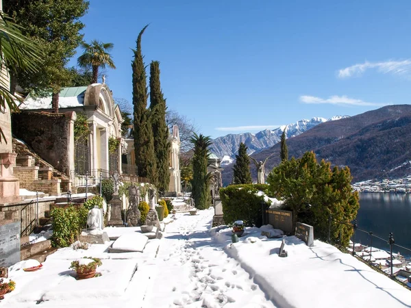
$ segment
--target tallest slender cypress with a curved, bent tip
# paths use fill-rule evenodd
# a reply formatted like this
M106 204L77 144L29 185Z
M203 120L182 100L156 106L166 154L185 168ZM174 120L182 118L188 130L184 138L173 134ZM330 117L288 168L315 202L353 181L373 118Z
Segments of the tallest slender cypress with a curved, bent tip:
M140 31L137 38L137 49L134 50L133 69L133 105L134 105L134 154L140 177L147 177L157 184L156 163L154 154L153 131L150 112L147 110L146 71L141 53L141 36L149 25Z

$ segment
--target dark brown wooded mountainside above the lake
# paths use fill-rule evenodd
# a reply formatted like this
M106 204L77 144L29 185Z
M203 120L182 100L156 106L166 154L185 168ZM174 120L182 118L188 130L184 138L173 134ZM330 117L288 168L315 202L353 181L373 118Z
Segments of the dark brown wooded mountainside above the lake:
M348 166L353 182L392 179L411 174L411 105L389 105L357 116L333 120L287 140L288 157L314 151L317 160ZM270 172L280 162L280 144L253 155ZM232 165L223 170L223 183L232 179ZM256 169L251 166L256 178Z

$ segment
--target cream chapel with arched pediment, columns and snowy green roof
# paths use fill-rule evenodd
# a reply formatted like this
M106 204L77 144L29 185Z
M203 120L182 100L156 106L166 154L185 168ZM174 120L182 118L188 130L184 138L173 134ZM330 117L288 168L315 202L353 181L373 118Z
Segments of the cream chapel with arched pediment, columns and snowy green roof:
M127 144L121 137L123 118L107 85L63 88L60 91L59 114L65 115L65 119L60 119L60 122L66 121L66 126L58 124L58 118L49 120L53 114L42 114L46 123L33 123L30 120L41 117L38 112L51 111L51 96L34 98L29 95L20 109L22 112L16 115L16 125L13 127L17 138L21 138L40 157L68 175L75 186L85 185L86 177L88 184L92 185L93 181L99 183L100 177L109 177L115 171L122 173L121 154L127 152ZM75 120L80 116L85 116L86 122L82 125L88 128L84 138L75 136L82 130L82 127L75 127ZM53 128L48 127L49 132L40 136L45 125L53 125ZM66 142L58 148L53 147L61 138Z

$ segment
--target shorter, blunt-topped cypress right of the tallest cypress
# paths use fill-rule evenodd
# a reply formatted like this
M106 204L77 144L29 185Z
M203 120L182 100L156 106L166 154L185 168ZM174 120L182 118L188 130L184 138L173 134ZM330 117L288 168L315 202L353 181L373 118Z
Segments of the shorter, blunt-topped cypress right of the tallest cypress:
M160 62L150 64L150 110L152 114L151 128L155 144L155 158L158 171L158 189L169 190L169 129L166 125L166 100L160 87Z

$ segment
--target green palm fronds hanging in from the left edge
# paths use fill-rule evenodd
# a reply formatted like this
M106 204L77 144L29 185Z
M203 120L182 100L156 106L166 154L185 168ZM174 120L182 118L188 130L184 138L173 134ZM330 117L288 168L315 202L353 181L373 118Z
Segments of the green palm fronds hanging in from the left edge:
M21 27L12 22L7 14L0 11L0 107L6 105L11 112L18 112L16 97L10 92L8 73L16 73L17 68L27 73L36 72L41 63L41 51L37 44L21 34ZM5 139L0 127L0 142Z

